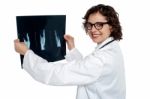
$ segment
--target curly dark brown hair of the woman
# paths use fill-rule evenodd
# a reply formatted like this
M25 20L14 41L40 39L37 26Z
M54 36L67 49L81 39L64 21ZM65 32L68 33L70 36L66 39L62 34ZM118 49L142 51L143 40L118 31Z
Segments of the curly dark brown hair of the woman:
M112 32L110 36L113 37L115 40L122 39L122 28L119 22L119 14L114 10L113 7L109 5L99 4L91 7L83 17L83 19L85 20L83 22L83 25L85 26L85 23L88 21L88 18L91 14L97 12L101 13L104 17L106 17L108 24L112 26ZM85 27L84 29L87 32Z

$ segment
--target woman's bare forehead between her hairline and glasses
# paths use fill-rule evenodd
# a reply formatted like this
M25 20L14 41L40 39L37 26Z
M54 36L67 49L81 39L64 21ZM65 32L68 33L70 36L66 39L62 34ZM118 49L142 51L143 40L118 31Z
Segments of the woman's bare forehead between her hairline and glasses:
M101 13L96 12L96 13L93 13L93 14L89 15L88 22L91 22L91 23L107 22L107 20L106 20L106 17L103 16Z

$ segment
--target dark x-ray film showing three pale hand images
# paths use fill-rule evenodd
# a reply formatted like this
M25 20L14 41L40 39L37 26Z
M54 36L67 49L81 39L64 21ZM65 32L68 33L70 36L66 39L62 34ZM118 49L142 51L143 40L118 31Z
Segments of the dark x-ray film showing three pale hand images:
M66 15L16 16L16 22L18 38L34 53L49 62L64 59Z

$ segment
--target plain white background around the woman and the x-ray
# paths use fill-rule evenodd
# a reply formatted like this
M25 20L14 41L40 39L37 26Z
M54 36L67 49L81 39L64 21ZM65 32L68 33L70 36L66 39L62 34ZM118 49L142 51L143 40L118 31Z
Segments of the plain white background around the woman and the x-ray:
M150 99L150 5L148 0L1 0L0 1L0 99L75 99L76 86L48 86L20 68L14 51L17 15L66 14L66 34L77 48L89 54L95 44L82 28L88 8L104 3L119 13L123 27L120 42L125 60L127 99Z

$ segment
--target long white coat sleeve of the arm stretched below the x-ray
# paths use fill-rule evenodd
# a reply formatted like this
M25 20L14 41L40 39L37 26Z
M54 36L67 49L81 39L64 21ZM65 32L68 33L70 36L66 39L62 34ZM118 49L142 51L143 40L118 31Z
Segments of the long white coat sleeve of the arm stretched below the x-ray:
M91 54L67 63L47 62L28 50L23 68L37 81L49 85L85 85L96 81L102 72L103 59Z

